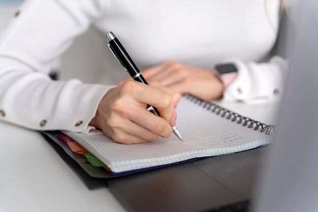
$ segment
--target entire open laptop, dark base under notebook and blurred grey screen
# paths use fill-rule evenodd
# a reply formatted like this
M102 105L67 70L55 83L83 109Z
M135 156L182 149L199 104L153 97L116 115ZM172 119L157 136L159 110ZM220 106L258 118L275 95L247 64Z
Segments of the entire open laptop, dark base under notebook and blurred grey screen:
M318 2L303 0L273 145L108 181L129 211L317 211Z

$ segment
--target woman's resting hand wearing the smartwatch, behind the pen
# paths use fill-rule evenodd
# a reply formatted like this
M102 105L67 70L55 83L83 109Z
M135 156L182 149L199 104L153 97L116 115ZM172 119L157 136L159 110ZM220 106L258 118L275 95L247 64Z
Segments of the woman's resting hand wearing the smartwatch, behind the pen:
M180 94L191 94L203 100L222 97L223 86L212 70L166 62L142 71L146 80L155 80Z

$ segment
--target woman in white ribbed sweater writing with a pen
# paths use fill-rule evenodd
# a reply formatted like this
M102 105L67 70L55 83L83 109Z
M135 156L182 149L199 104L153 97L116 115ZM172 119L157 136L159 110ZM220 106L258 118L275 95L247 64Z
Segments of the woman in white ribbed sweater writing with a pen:
M171 135L176 92L206 100L275 99L284 61L258 62L274 46L279 9L279 0L26 1L0 36L0 117L36 130L98 128L116 142L139 143ZM90 24L113 31L136 64L149 67L146 79L166 87L51 81L54 60ZM227 84L211 72L218 63L238 70Z

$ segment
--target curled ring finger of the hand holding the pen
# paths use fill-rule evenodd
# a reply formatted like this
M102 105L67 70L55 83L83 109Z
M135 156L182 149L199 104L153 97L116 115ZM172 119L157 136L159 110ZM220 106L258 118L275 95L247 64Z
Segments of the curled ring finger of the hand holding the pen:
M138 138L142 138L143 140L147 140L147 141L155 141L159 137L158 134L155 134L149 129L135 122L132 122L132 120L130 119L125 119L120 129L125 133L136 136Z

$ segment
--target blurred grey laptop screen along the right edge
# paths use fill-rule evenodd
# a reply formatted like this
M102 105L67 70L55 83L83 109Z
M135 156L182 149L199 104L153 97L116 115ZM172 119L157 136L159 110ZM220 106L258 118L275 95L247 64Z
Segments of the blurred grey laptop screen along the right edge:
M253 211L318 211L318 1L302 0L276 142Z

